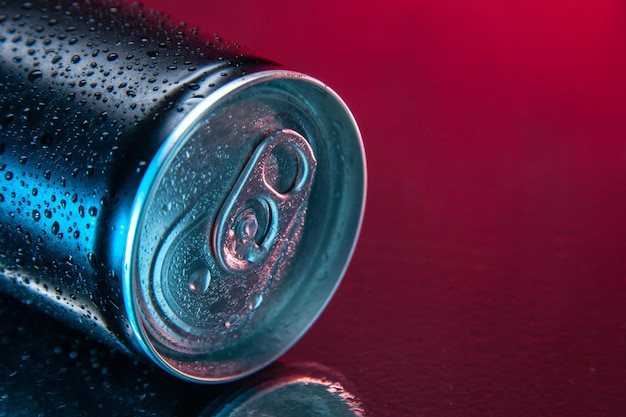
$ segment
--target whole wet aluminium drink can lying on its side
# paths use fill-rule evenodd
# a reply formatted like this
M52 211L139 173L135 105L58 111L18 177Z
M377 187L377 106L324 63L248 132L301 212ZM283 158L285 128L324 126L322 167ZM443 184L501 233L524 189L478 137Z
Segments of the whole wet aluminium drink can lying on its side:
M0 287L194 381L284 352L361 221L343 102L138 5L2 4Z

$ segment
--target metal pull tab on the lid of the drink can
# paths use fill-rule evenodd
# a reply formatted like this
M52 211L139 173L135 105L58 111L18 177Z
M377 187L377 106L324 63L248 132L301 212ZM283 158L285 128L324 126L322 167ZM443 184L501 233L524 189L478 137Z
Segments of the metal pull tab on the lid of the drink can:
M277 130L255 149L218 213L213 252L226 271L263 262L305 210L317 161L307 140Z

